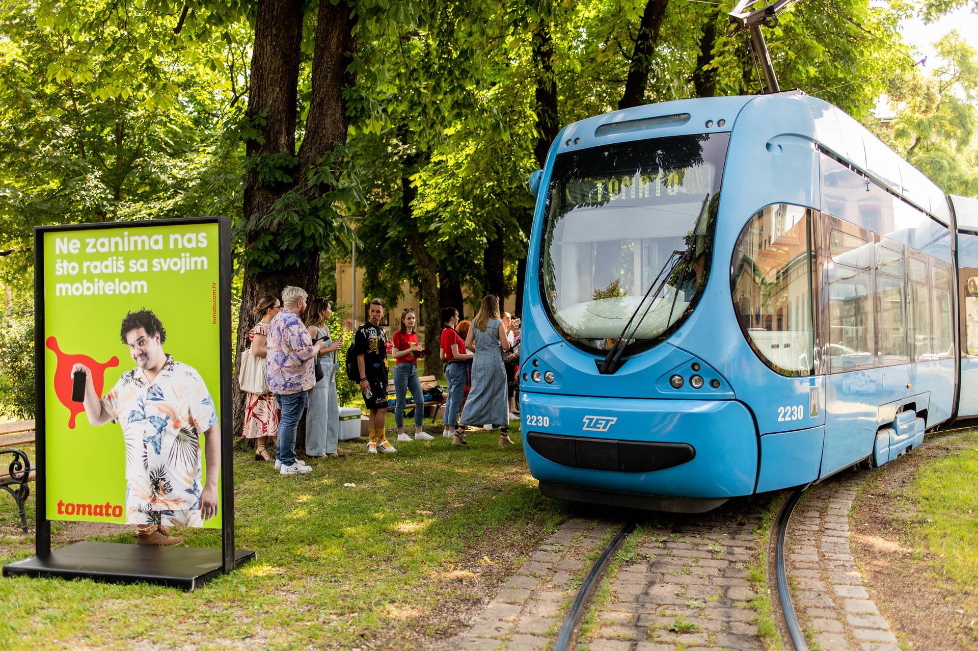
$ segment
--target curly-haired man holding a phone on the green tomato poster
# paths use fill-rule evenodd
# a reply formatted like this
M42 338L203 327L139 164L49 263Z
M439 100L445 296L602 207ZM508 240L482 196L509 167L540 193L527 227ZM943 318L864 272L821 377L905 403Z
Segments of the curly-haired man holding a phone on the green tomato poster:
M166 330L151 310L129 312L119 335L136 368L122 374L103 398L85 374L84 405L94 426L118 421L125 442L126 523L136 542L170 545L183 538L165 527L202 527L217 513L220 428L214 401L200 374L163 352ZM206 480L201 487L200 435Z

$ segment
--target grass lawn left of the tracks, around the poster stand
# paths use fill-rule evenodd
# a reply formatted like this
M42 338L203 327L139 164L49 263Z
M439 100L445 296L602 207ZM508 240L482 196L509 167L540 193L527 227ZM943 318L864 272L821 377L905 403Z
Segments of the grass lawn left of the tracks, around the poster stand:
M503 449L498 432L469 435L467 448L440 436L395 442L389 455L367 454L365 439L341 442L345 456L309 460L304 477L237 450L237 544L257 561L190 593L0 579L0 648L425 646L460 628L460 615L568 516L540 494L517 428L511 436L517 444ZM0 493L0 563L33 553L17 525ZM133 540L130 528L86 527L55 524L55 544ZM212 531L175 531L189 545L220 545Z

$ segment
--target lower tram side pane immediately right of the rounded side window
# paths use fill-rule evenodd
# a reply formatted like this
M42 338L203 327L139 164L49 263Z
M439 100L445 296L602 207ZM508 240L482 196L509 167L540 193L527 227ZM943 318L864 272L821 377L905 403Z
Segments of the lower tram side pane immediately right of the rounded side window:
M839 263L828 268L828 356L833 373L873 364L872 277Z

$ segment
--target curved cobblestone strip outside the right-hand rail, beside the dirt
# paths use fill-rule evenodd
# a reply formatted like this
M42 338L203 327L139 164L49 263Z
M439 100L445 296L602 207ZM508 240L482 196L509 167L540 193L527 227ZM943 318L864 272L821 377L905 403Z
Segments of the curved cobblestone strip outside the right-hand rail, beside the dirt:
M813 487L788 526L788 581L802 628L822 651L900 651L849 548L849 509L870 471Z

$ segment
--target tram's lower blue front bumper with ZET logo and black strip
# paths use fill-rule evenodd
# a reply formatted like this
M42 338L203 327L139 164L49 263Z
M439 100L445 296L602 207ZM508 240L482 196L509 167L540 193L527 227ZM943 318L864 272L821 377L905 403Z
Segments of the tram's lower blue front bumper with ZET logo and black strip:
M548 494L718 499L754 490L757 431L737 400L524 392L520 405L526 461Z

